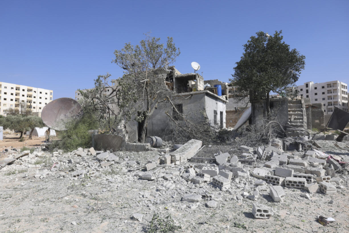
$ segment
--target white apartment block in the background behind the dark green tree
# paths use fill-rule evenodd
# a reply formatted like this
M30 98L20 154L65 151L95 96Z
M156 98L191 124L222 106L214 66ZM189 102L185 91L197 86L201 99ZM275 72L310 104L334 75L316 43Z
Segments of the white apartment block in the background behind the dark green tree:
M310 99L310 103L322 103L325 114L332 114L334 106L348 112L348 85L339 81L314 83L297 86L298 95Z

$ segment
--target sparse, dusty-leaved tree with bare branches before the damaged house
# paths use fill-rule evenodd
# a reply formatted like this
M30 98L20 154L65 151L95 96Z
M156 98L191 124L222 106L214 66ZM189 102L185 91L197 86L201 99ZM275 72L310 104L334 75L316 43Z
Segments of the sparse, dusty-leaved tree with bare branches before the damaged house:
M115 50L113 62L124 69L124 75L117 79L116 101L125 120L132 118L141 122L140 141L144 142L148 120L159 103L169 95L163 74L169 64L180 54L167 37L166 47L160 38L146 35L139 45L126 43L121 50Z

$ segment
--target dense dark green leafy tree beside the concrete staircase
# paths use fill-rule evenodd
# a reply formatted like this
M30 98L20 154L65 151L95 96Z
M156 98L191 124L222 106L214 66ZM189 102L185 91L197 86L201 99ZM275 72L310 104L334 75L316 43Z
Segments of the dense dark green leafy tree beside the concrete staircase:
M265 100L269 114L269 93L284 94L295 84L305 66L305 56L296 49L290 49L281 35L273 36L259 31L244 44L244 53L236 62L233 78L230 79L238 90L253 100Z

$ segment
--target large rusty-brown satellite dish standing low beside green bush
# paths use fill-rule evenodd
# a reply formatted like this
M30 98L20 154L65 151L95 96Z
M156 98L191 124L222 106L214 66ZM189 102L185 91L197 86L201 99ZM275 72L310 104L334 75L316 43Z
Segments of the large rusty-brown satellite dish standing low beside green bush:
M71 98L59 98L45 105L41 119L47 127L55 130L66 130L66 123L81 116L81 106Z

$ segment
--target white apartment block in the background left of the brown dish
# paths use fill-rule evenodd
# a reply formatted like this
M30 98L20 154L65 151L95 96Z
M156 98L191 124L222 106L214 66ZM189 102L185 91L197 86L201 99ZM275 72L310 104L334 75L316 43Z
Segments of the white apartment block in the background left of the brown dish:
M19 107L20 102L27 103L32 112L41 112L52 99L52 90L0 82L1 115L6 115L8 108Z

